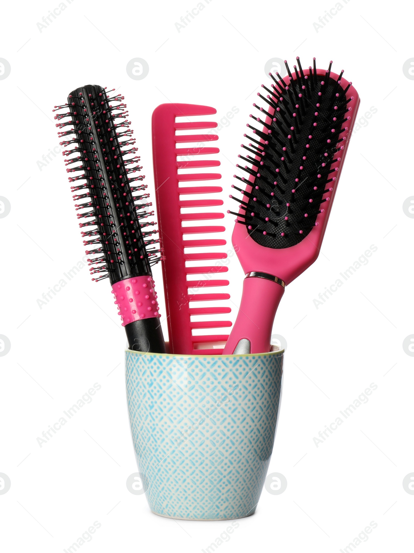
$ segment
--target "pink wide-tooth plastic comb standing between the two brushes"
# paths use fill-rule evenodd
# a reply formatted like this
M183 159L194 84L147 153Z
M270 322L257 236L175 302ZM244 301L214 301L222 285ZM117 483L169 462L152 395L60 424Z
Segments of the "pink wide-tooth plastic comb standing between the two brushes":
M222 353L220 342L224 346L228 335L193 336L192 330L199 328L221 328L232 325L230 321L192 322L192 315L217 315L229 313L229 307L190 307L191 301L227 300L229 294L188 294L188 288L202 289L209 286L227 286L228 280L205 279L192 280L193 274L214 275L226 273L227 267L208 265L204 267L186 267L186 261L205 261L227 258L227 253L203 252L184 253L185 248L207 248L224 246L226 240L197 238L185 240L185 234L205 234L223 232L223 226L199 226L200 221L222 219L223 213L181 213L182 208L213 207L223 205L222 200L180 200L184 194L214 194L221 192L221 186L186 186L186 182L221 179L219 173L178 173L178 169L204 168L220 165L216 160L177 161L177 156L195 156L217 154L218 148L200 146L200 143L217 140L216 134L180 134L177 130L211 129L217 123L209 121L180 122L176 117L201 116L216 113L208 106L192 104L161 104L153 113L153 159L155 194L158 208L161 246L163 252L163 275L170 352L191 355ZM177 148L177 143L196 142L195 148ZM181 185L180 185L181 184ZM184 186L183 186L184 185ZM183 221L194 221L195 226L183 226ZM216 262L217 263L217 262ZM187 279L187 275L190 275Z

